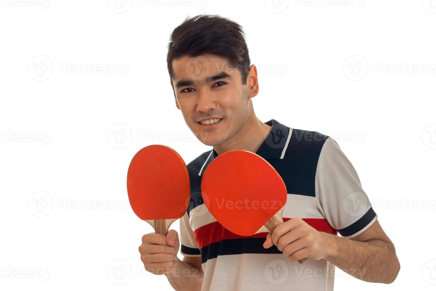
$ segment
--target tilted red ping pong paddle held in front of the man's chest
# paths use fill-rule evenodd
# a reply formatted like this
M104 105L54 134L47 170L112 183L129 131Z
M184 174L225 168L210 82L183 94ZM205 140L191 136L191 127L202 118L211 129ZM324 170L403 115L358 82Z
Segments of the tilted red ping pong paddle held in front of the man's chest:
M215 157L204 171L201 193L211 215L240 236L272 233L283 223L286 185L271 164L250 151Z

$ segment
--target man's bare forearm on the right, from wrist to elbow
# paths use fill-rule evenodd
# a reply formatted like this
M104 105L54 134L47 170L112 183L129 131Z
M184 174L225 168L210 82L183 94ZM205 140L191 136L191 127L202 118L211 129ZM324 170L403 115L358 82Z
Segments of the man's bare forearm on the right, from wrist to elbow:
M373 239L354 241L323 233L326 238L325 260L363 281L392 283L399 272L399 261L392 243Z

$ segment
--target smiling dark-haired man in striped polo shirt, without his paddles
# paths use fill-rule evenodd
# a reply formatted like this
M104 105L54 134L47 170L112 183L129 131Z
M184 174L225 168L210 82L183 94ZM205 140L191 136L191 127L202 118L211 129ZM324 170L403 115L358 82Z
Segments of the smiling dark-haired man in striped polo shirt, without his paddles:
M242 27L215 15L187 18L171 34L167 65L177 108L213 149L187 165L191 203L180 220L180 242L175 230L143 236L147 271L165 274L176 290L333 290L334 266L364 281L395 280L395 248L337 143L255 116L257 69ZM232 150L259 154L285 181L284 223L272 235L237 236L204 206L204 170Z

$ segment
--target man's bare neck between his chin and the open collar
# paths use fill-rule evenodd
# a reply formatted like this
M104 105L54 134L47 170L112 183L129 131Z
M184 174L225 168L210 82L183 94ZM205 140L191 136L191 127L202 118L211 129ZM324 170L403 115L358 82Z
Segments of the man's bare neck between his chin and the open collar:
M245 150L255 153L268 137L271 127L260 121L254 114L249 116L238 132L225 143L214 146L218 155L227 151Z

